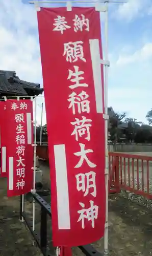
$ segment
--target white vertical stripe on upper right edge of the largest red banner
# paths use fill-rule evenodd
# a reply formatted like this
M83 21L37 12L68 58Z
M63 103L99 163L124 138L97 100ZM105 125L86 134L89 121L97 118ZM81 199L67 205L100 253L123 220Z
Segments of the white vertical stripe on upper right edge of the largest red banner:
M100 66L99 40L90 39L90 52L92 60L92 71L95 89L96 112L103 113L103 88L102 88L102 72Z

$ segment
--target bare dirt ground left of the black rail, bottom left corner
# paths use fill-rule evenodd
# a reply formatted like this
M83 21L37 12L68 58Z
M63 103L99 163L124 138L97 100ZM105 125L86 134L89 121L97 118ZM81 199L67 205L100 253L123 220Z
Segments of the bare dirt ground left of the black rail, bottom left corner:
M41 256L30 231L19 221L19 197L7 198L7 180L0 178L0 255Z

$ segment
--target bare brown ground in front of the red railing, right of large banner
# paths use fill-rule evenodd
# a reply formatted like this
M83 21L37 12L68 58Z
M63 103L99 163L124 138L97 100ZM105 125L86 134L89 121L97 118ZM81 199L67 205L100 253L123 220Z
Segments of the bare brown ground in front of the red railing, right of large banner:
M152 212L124 195L109 198L111 256L152 255Z

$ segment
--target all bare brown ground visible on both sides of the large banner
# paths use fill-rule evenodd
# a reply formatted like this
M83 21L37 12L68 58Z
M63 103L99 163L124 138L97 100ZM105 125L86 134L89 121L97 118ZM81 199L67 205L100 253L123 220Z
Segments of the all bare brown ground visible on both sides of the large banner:
M49 167L41 163L43 169L44 187L50 187ZM6 197L6 179L0 179L0 255L1 256L39 256L40 251L32 246L30 232L22 222L19 222L19 198ZM45 197L50 202L50 196ZM32 218L33 205L26 202L26 212ZM40 207L36 204L36 225L40 226ZM51 241L51 220L48 219L48 240ZM134 201L130 201L124 193L109 196L109 256L151 256L152 255L152 211ZM103 239L93 246L103 252ZM53 251L53 248L52 248ZM83 255L77 248L73 248L73 255Z

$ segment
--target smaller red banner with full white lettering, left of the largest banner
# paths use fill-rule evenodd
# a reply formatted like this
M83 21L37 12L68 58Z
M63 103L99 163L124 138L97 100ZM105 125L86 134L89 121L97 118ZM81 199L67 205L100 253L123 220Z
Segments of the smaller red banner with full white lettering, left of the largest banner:
M8 197L28 193L33 188L33 102L7 100Z

